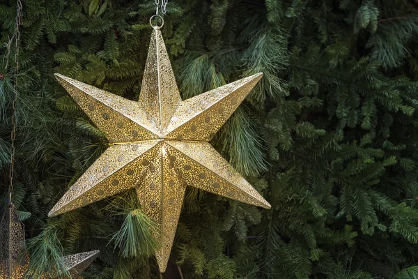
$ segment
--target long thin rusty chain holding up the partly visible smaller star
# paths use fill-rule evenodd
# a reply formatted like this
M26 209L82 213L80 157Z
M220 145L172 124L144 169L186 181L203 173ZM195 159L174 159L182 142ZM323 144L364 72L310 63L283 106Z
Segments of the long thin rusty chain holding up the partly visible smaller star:
M10 139L12 140L12 146L10 147L10 185L8 189L9 204L12 204L13 193L13 178L15 176L15 140L16 140L16 105L17 105L17 75L19 74L19 42L20 42L20 25L22 25L22 2L20 0L17 3L16 13L16 31L15 31L15 84L13 86L13 112L12 112L12 133Z

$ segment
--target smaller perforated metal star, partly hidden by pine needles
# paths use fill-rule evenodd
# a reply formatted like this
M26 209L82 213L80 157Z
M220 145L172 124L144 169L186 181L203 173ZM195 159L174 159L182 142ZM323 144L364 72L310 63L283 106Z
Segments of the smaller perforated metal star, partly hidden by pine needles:
M71 278L79 278L96 257L99 251L81 252L62 257L63 268ZM15 207L10 204L0 222L0 279L22 279L27 277L29 257L25 252L24 229ZM29 274L29 276L35 276ZM53 272L37 275L38 278L57 278Z

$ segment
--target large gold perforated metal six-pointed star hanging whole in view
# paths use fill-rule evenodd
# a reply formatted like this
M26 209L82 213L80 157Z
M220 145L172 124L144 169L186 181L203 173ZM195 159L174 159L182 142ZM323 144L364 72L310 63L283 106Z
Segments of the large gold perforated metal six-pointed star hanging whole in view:
M186 186L270 209L270 204L213 149L222 127L262 73L181 100L161 31L150 39L139 101L56 74L57 80L111 143L49 216L135 188L157 224L160 271L167 266Z

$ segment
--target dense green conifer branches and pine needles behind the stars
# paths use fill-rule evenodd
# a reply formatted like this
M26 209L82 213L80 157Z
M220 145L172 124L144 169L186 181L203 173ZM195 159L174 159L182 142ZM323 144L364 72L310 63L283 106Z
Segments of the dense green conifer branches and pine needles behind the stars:
M141 89L154 1L93 1L22 1L13 199L33 269L100 250L84 278L161 278L131 191L47 218L108 146L53 73ZM15 6L0 2L1 206ZM164 21L183 98L264 73L212 144L272 204L188 188L164 278L418 278L418 2L170 0Z

